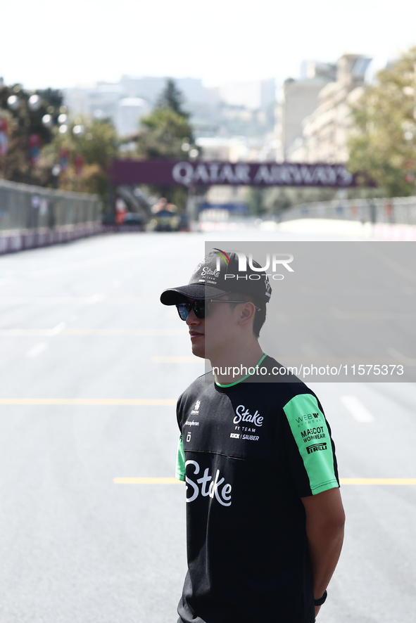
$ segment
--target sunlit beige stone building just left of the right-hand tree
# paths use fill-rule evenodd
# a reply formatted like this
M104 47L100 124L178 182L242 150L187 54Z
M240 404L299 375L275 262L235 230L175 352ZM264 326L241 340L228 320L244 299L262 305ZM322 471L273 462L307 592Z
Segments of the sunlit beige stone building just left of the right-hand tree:
M302 136L288 150L288 160L296 162L346 162L351 132L351 105L363 93L370 58L344 54L336 63L336 81L319 93L315 110L302 122Z

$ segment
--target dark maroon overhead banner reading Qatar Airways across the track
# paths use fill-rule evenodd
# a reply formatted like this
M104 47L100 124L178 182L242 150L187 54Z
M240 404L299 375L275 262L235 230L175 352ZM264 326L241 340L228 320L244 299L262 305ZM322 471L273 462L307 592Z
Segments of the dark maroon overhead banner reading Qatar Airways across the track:
M360 174L344 165L298 162L205 162L202 160L113 160L113 184L175 186L358 186Z

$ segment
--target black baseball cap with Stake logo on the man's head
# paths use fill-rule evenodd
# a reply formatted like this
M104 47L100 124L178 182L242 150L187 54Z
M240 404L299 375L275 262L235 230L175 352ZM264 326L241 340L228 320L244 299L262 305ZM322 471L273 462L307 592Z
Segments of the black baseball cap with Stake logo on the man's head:
M213 299L230 292L246 293L266 303L270 300L269 278L258 262L249 260L243 253L216 251L208 253L196 266L188 285L165 290L160 301L164 305L175 305L184 297Z

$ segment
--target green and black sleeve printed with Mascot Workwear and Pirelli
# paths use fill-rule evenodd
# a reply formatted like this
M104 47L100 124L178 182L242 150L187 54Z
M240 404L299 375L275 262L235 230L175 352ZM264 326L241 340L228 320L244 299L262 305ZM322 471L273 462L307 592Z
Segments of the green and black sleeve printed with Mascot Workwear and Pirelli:
M284 413L296 442L291 465L298 489L303 495L316 495L339 487L331 432L315 396L298 394L284 406Z

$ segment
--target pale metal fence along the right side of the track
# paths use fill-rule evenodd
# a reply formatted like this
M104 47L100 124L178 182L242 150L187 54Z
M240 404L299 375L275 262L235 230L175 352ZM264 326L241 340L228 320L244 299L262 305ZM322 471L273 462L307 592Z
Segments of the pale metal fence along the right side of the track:
M302 203L280 214L281 221L294 219L341 219L373 224L416 225L416 197Z

